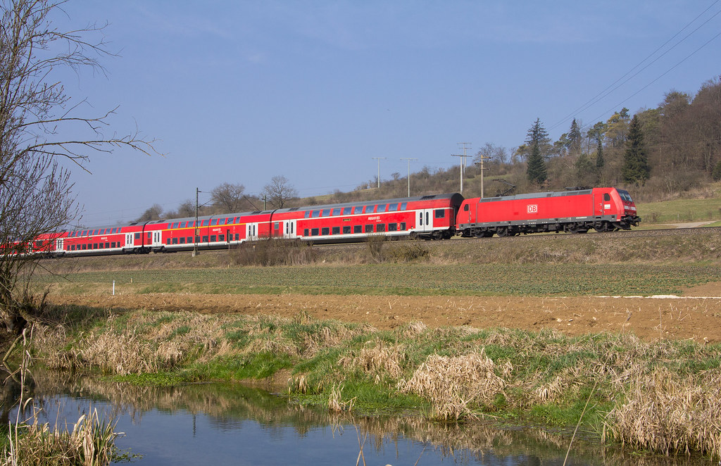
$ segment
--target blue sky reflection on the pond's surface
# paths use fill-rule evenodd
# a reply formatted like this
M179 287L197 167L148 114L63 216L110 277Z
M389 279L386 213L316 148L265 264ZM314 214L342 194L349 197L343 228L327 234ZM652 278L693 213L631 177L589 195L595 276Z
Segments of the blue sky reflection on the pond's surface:
M62 396L36 398L42 400L44 411L40 421L63 424L75 422L87 412L97 409L103 418L117 411L110 403ZM58 408L60 413L58 415ZM123 452L141 454L134 465L355 465L360 452L358 431L352 424L342 426L298 426L282 423L260 423L233 416L216 417L187 410L151 409L131 414L116 413L115 431L125 436L116 440ZM12 415L14 419L14 414ZM68 426L71 428L71 426ZM563 459L539 460L537 457L495 457L490 452L471 454L458 449L453 455L441 449L410 439L386 438L382 444L366 439L363 447L366 465L419 466L467 465L561 465ZM363 464L363 460L359 464ZM570 465L588 464L570 462Z

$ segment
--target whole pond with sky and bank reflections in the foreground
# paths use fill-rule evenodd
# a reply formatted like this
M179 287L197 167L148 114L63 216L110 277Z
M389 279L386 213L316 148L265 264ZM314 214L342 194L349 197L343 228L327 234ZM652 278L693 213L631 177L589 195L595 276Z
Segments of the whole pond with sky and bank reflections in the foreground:
M13 390L6 388L6 399ZM417 414L355 416L300 405L242 384L134 387L35 373L40 421L74 423L97 410L125 435L134 465L563 465L571 432L497 423L448 425ZM5 411L14 421L15 412ZM710 465L639 457L577 436L566 465Z

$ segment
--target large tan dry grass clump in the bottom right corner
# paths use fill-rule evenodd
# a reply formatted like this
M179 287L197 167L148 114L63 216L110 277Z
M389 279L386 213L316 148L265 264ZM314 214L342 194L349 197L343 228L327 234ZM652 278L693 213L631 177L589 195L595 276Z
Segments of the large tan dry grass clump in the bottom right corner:
M611 410L607 428L624 444L643 449L721 456L721 372L693 381L656 369Z

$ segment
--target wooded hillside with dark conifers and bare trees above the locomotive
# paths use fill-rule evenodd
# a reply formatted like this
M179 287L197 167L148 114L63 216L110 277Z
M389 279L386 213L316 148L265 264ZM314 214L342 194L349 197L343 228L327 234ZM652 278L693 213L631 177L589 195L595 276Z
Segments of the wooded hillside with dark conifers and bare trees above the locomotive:
M557 141L536 119L516 150L487 143L476 162L481 157L490 162L486 176L504 177L520 193L613 185L647 200L671 198L721 180L721 78L694 96L671 90L635 115L624 107L606 121L574 119Z

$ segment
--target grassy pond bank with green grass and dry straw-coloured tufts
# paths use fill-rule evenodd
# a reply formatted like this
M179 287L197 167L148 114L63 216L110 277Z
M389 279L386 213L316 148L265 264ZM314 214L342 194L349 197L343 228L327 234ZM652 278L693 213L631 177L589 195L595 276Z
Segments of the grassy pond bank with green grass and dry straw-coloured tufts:
M637 449L721 454L720 346L421 323L379 331L304 312L56 310L74 317L34 336L36 360L53 369L151 384L273 381L300 403L410 408L435 421L580 419L585 431Z

